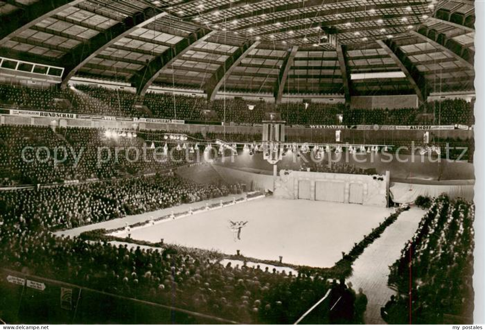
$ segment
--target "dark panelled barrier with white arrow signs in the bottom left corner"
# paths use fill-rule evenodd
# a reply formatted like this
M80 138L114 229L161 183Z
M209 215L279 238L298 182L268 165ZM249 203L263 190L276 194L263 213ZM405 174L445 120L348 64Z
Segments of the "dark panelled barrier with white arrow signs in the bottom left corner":
M237 324L10 269L0 269L0 297L2 319L14 324Z

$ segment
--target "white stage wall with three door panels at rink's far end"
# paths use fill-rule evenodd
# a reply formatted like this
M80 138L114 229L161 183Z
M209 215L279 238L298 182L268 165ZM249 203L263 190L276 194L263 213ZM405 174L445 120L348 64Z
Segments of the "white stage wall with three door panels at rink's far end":
M386 206L389 174L357 175L281 170L275 197Z

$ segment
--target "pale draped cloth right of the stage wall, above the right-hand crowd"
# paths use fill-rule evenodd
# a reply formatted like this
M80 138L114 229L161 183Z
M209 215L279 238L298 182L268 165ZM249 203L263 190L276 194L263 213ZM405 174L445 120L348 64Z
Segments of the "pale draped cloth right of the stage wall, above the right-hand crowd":
M417 185L411 183L394 182L390 191L392 200L397 203L414 203L418 196L437 197L447 193L450 198L461 197L473 201L473 185Z

